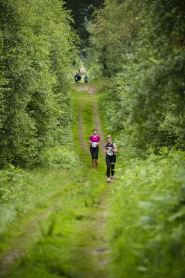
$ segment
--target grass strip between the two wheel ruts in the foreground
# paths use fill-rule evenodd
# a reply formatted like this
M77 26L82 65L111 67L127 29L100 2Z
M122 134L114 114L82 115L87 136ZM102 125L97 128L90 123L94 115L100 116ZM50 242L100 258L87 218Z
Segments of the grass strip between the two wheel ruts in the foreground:
M42 235L8 277L24 277L25 273L26 277L41 277L41 273L45 277L73 277L77 273L77 277L93 277L95 265L90 254L94 247L95 227L92 211L102 189L95 174L88 177L84 185L77 181L73 185L70 195L61 198L54 212L42 220Z

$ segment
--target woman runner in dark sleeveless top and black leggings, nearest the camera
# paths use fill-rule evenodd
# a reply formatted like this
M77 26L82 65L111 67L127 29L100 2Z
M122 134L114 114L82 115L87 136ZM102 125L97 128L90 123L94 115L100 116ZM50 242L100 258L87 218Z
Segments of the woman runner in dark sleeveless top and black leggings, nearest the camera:
M118 148L114 142L112 142L111 136L108 135L106 137L107 143L105 145L105 153L106 153L106 175L107 175L107 182L113 181L114 175L114 167L116 163L116 155L118 153ZM110 179L111 175L111 179Z

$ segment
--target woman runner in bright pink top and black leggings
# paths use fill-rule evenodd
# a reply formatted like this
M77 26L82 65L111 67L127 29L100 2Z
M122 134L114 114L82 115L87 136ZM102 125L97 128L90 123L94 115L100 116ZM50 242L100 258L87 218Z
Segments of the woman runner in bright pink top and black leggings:
M90 154L92 157L92 166L91 168L95 168L97 166L98 152L99 152L99 136L97 135L97 129L93 129L93 134L89 138L90 143Z

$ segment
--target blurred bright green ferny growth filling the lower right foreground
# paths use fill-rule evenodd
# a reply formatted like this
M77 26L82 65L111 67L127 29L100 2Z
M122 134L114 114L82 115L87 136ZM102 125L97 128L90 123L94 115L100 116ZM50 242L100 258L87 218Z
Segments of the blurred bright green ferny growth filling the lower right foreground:
M120 173L108 221L113 277L184 277L184 176L184 153L167 149Z

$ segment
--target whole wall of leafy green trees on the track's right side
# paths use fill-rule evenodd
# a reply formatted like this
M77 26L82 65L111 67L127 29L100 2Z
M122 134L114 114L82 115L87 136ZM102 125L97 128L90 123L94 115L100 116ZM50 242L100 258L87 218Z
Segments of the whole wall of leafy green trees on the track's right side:
M160 0L107 0L97 11L91 41L111 77L107 115L132 149L184 148L184 12L182 1Z

